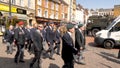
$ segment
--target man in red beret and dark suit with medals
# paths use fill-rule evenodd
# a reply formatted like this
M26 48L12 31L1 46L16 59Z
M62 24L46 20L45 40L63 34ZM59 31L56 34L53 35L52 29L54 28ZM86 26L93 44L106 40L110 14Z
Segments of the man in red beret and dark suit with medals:
M24 63L24 45L25 45L25 31L23 29L24 22L18 23L19 27L15 29L15 42L17 45L17 52L15 55L15 63Z

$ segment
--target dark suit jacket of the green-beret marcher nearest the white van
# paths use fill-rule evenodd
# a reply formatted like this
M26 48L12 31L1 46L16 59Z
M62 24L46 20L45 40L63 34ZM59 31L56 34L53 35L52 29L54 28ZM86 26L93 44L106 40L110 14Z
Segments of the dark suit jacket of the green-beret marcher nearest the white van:
M80 47L85 46L85 39L79 29L75 30L75 47L80 50Z

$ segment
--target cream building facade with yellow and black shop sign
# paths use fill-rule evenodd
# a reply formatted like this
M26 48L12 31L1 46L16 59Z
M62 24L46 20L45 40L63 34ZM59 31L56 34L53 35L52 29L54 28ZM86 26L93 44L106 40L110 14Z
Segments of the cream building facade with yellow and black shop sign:
M0 12L3 16L29 20L35 16L35 0L0 0ZM11 9L10 9L11 8Z

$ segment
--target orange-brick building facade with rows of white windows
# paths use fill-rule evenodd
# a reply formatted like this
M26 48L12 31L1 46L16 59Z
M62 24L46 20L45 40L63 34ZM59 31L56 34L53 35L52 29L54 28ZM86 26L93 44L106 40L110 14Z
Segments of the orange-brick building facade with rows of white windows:
M64 0L36 0L36 20L39 23L67 20L68 4Z

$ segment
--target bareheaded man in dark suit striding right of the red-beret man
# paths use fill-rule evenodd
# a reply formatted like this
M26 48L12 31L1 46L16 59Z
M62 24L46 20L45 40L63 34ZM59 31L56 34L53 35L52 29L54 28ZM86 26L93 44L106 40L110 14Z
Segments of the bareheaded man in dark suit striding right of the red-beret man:
M43 50L43 38L42 38L42 32L41 30L43 29L42 25L38 25L38 29L33 31L32 33L32 41L33 41L33 47L34 47L34 58L32 62L30 63L30 68L33 68L34 63L37 61L37 67L41 68L41 53Z

